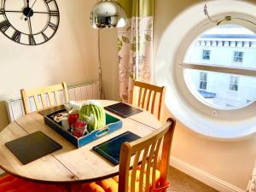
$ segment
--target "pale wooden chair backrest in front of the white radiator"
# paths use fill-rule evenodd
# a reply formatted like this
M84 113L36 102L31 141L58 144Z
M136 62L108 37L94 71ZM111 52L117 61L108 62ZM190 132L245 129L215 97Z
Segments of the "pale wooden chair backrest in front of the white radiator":
M33 99L37 111L44 108L61 105L60 91L63 92L65 102L68 102L67 84L65 82L33 90L20 90L25 113L30 113L30 108L28 105L29 98Z

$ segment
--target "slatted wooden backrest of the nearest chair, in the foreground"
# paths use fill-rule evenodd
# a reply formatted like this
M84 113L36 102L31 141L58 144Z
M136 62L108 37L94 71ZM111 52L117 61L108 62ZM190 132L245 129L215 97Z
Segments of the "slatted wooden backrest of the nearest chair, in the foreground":
M147 137L131 143L123 143L119 160L119 192L149 192L150 183L152 184L152 189L166 185L175 124L176 121L174 119L167 119L165 125L162 125ZM132 154L134 154L133 159L131 158ZM158 161L159 156L160 161ZM137 186L137 167L140 163L139 183ZM155 170L159 166L159 186L155 186Z

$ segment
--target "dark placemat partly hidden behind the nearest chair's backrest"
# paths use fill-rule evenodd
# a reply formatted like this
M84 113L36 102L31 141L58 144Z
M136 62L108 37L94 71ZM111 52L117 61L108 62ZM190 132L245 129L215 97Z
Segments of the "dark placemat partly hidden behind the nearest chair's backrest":
M104 158L112 162L114 165L119 164L119 154L121 145L125 142L132 142L141 138L131 131L126 131L117 137L109 139L107 142L96 145L92 149L98 154L101 154Z

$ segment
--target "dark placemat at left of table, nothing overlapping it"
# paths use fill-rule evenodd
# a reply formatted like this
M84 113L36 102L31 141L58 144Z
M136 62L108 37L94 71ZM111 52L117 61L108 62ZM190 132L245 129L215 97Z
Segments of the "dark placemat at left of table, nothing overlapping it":
M62 148L42 131L17 138L5 145L24 165Z

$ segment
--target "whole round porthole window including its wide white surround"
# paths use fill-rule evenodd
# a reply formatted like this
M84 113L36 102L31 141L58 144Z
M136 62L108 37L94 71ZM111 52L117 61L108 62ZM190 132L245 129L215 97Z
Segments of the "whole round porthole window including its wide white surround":
M154 57L154 77L166 86L166 107L185 127L207 137L237 139L256 133L256 5L207 1L172 20ZM185 25L184 25L185 24Z

